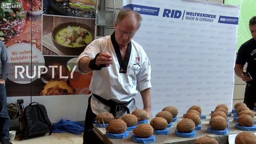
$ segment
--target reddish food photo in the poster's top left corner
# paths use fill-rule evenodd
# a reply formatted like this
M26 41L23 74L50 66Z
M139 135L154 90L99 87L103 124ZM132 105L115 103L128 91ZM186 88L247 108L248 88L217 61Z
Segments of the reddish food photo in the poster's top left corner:
M0 40L7 47L28 43L41 50L41 0L12 0L11 3L16 7L0 8Z

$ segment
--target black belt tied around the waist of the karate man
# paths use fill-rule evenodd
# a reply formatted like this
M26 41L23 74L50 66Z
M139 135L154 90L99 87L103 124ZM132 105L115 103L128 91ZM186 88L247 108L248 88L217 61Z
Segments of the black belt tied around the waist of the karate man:
M106 106L110 107L110 113L112 113L115 117L115 112L119 112L120 110L126 109L127 113L130 113L129 108L127 107L127 105L133 100L130 100L126 103L115 103L115 101L113 100L106 100L105 98L100 97L99 95L93 94L93 96L95 98L97 98L97 100L99 100L100 102L102 102L103 104L105 104Z

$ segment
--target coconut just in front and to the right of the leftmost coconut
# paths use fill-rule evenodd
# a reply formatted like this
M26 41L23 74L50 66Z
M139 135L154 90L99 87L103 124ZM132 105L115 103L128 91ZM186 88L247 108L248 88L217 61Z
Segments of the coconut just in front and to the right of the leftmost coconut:
M113 119L109 122L108 127L106 127L107 132L114 134L124 133L126 129L126 122L124 122L122 119Z

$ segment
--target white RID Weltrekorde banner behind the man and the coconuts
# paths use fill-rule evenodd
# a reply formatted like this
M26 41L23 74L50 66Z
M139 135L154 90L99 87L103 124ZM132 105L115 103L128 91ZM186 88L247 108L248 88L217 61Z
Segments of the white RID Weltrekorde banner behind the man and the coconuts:
M202 113L218 104L231 109L239 7L180 0L123 1L123 7L143 19L133 40L151 62L153 117L165 106L177 107L178 115L193 105Z

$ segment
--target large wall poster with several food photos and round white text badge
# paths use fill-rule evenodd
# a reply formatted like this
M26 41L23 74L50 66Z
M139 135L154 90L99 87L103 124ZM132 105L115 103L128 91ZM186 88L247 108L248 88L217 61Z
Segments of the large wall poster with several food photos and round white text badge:
M90 94L76 60L94 40L96 0L1 0L8 97Z

